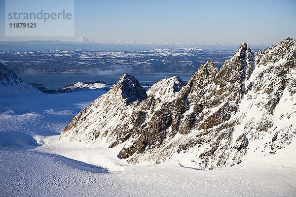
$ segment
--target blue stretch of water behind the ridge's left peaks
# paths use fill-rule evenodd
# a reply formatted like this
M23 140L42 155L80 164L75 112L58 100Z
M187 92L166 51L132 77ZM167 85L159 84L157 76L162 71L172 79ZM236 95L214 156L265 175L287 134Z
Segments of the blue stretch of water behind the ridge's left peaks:
M163 78L179 76L187 82L193 73L132 73L142 85L153 84ZM120 74L111 76L97 76L83 73L17 73L26 83L42 84L49 90L58 90L59 88L74 84L77 82L95 82L105 81L108 84L118 82Z

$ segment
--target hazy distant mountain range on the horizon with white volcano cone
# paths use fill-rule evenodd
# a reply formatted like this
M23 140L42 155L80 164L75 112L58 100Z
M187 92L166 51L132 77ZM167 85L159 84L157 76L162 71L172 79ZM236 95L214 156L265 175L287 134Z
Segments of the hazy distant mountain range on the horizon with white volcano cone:
M263 49L270 44L250 44L253 49ZM177 42L94 42L85 36L73 41L61 40L30 40L0 41L0 51L45 51L45 50L91 50L91 51L136 51L170 48L202 48L205 50L236 50L239 43L177 43Z

